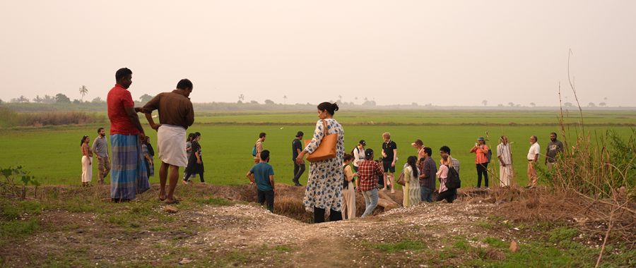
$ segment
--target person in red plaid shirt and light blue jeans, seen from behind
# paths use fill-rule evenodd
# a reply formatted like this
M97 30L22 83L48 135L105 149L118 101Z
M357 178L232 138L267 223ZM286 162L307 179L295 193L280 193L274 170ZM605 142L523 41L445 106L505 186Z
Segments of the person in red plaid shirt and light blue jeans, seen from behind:
M383 175L382 166L373 161L373 150L365 150L365 161L358 164L359 179L355 181L358 191L362 192L363 197L365 197L366 204L365 213L360 218L371 214L373 209L377 207L377 179L382 178Z

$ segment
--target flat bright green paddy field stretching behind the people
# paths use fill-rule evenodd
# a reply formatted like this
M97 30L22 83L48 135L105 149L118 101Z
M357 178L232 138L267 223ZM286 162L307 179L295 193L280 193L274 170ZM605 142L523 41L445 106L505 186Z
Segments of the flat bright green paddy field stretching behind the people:
M347 152L362 139L367 141L367 148L376 150L379 155L382 133L390 132L392 140L398 145L399 161L396 166L399 167L404 165L406 157L416 154L416 149L411 147L411 142L416 139L421 139L426 146L432 147L436 161L439 161L439 148L442 145L449 146L452 156L461 163L461 178L463 187L466 187L476 184L474 154L469 154L469 150L476 138L486 136L487 131L491 140L488 145L492 145L493 152L497 138L502 133L514 142L512 150L517 183L524 185L527 182L525 158L530 146L529 137L537 135L541 151L545 152L549 133L559 132L559 127L554 126L558 123L557 116L555 111L378 111L376 114L360 111L336 112L335 118L344 125ZM201 111L196 113L194 126L188 132L198 131L202 134L201 146L208 183L247 183L245 173L253 164L252 147L258 134L265 132L268 135L264 148L271 151L270 164L276 173L274 178L277 183L291 184L291 142L298 130L305 132L305 138L310 138L316 121L317 114L307 111ZM570 122L578 121L579 118L571 114ZM155 131L147 127L145 119L142 122L147 134L153 138L153 145L156 145ZM596 111L584 114L584 123L594 124L586 128L586 132L591 131L593 135L601 135L609 128L629 135L630 126L614 124L633 126L634 122L634 111ZM423 126L413 126L411 123ZM106 124L104 127L108 130L108 123ZM94 140L98 127L100 126L0 129L0 166L25 166L25 169L31 171L31 175L44 184L80 184L80 140L83 135L90 135ZM570 127L571 135L576 135L575 129ZM158 161L158 157L155 157L155 161ZM544 168L543 158L539 162ZM497 164L493 163L489 167L498 172ZM95 182L98 178L96 164L93 169ZM158 165L155 169L158 171ZM301 183L305 184L306 181L307 173ZM151 178L151 183L157 182L157 176Z

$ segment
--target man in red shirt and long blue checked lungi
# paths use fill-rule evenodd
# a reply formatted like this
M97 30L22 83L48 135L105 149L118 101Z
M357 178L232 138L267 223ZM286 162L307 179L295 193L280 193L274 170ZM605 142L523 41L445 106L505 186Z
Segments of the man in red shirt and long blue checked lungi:
M110 197L112 202L133 200L136 194L150 189L146 162L143 160L140 138L146 138L134 108L128 87L132 84L132 71L121 68L115 73L117 84L108 92L108 118L112 169Z

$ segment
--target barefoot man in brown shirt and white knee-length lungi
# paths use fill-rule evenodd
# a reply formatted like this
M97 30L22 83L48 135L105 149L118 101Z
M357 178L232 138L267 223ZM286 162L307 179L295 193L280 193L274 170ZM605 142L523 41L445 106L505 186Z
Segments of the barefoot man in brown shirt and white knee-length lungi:
M143 106L143 113L151 128L157 130L157 150L161 159L159 169L159 200L167 204L179 203L174 197L179 181L179 166L187 166L185 143L186 130L194 123L194 109L189 95L192 93L192 82L182 79L177 89L163 92ZM159 111L159 124L153 121L152 112ZM170 188L165 193L168 166L170 166Z

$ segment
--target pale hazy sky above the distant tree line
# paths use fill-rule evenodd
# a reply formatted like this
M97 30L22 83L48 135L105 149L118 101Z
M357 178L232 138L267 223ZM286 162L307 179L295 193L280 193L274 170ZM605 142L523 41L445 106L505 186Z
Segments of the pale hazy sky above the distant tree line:
M0 99L636 106L636 1L2 1ZM630 78L632 77L632 78Z

